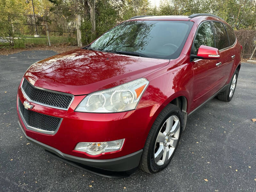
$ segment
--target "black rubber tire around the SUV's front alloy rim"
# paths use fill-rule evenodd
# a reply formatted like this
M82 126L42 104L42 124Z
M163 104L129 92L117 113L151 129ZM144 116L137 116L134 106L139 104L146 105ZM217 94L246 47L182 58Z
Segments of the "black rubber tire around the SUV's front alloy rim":
M179 121L180 121L180 134L179 134L179 138L178 138L178 142L177 142L177 146L176 148L174 149L173 153L172 153L172 156L170 157L170 159L163 165L157 165L155 163L155 159L154 159L154 151L155 151L155 142L156 142L156 138L157 138L157 135L160 131L160 129L162 128L162 125L164 124L164 122L172 115L175 115L179 118ZM181 136L181 132L182 132L182 127L183 127L183 119L182 119L182 113L179 109L173 109L171 111L169 111L167 114L165 114L163 120L161 121L160 124L158 124L158 127L154 133L154 139L151 140L150 142L150 148L149 148L149 151L150 151L150 157L149 157L149 164L150 164L150 167L151 167L151 170L154 172L158 172L162 169L164 169L169 163L170 161L172 160L172 157L178 147L178 144L179 144L179 141L180 141L180 136Z

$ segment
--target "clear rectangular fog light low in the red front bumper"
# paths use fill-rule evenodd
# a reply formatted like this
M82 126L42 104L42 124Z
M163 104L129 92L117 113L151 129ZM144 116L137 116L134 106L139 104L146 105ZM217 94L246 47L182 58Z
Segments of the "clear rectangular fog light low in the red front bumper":
M76 145L76 151L83 151L89 155L99 155L105 152L117 151L123 147L124 139L107 142L80 142Z

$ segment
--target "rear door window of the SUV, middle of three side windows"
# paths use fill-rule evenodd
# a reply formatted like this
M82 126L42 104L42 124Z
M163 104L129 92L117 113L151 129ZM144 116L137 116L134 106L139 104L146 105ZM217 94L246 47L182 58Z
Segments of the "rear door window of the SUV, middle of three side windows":
M219 22L213 22L213 26L216 32L215 36L217 37L218 49L220 50L228 47L228 35L224 28L224 25Z

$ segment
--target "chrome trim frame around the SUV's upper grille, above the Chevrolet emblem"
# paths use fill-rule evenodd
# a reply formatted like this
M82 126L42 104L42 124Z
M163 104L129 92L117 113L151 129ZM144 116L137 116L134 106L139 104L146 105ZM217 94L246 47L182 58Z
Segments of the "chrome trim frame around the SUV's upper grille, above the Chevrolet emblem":
M52 90L44 89L44 88L41 88L41 87L36 87L36 86L32 85L32 84L27 80L27 82L28 82L31 86L33 86L34 88L36 88L36 89L40 89L40 90L43 90L43 91L46 91L46 92L57 93L57 94L60 94L60 95L68 95L68 96L72 97L72 99L71 99L71 101L70 101L70 103L69 103L69 105L68 105L68 108L61 108L61 107L56 107L56 106L52 106L52 105L47 105L47 104L45 104L45 103L41 103L41 102L37 102L37 101L35 101L35 100L32 100L32 99L30 99L30 98L28 97L28 95L26 94L26 92L25 92L25 91L23 90L23 88L22 88L24 79L25 79L25 78L23 77L22 83L21 83L21 86L20 86L20 90L21 90L22 94L24 95L24 97L25 97L29 102L33 102L33 103L36 103L36 104L39 104L39 105L43 105L43 106L45 106L45 107L51 107L51 108L56 108L56 109L68 110L68 108L70 107L70 105L72 104L72 102L73 102L73 100L74 100L74 95L72 95L72 94L63 93L63 92L57 92L57 91L52 91Z

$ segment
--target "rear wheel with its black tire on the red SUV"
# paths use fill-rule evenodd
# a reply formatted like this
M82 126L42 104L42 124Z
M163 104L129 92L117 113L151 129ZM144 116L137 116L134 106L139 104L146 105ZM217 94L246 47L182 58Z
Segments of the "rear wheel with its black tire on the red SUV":
M238 71L236 70L236 72L232 76L232 78L228 84L228 87L225 89L225 91L223 91L217 95L218 100L226 101L226 102L229 102L232 100L232 98L234 96L234 92L236 90L237 77L238 77ZM232 93L231 93L231 88L233 89Z

